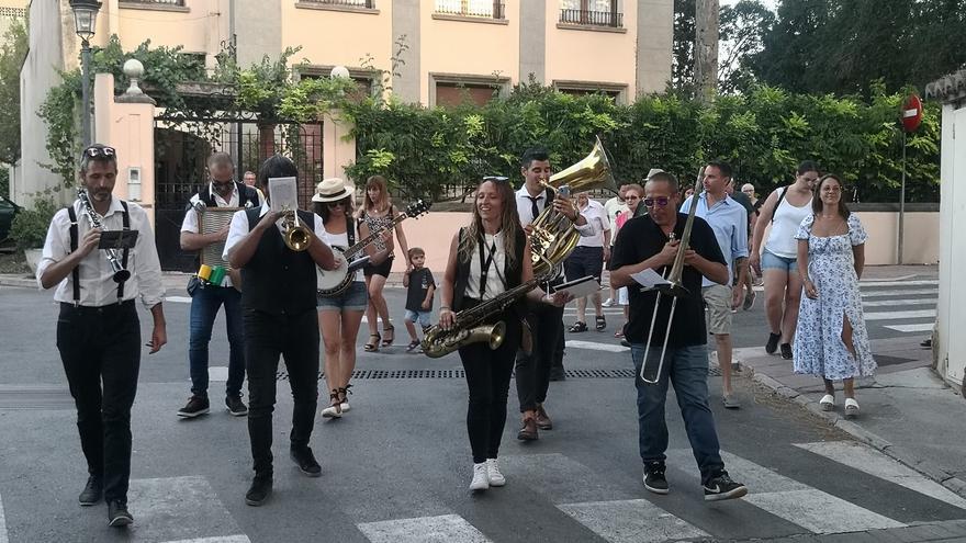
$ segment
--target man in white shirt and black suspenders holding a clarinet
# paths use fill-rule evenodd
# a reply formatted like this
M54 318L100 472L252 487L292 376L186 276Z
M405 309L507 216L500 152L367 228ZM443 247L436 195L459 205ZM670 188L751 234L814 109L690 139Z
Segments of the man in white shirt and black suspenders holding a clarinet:
M117 157L112 147L83 150L80 183L91 204L78 199L50 220L37 264L41 289L57 286L60 303L57 349L70 395L77 406L80 446L89 477L78 496L81 506L108 502L108 525L125 527L131 477L131 407L141 367L141 323L134 299L141 297L154 327L147 347L157 352L168 342L161 306L161 267L145 211L113 197ZM101 227L97 228L94 225ZM103 230L136 230L133 248L99 249ZM126 279L125 279L126 278ZM120 280L120 282L119 282Z

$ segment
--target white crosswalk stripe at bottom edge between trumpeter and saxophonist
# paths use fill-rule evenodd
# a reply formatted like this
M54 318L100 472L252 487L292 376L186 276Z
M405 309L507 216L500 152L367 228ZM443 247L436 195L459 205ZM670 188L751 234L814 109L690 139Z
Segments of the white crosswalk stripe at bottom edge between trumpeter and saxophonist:
M483 535L459 514L420 517L415 519L382 520L358 524L372 543L487 543Z

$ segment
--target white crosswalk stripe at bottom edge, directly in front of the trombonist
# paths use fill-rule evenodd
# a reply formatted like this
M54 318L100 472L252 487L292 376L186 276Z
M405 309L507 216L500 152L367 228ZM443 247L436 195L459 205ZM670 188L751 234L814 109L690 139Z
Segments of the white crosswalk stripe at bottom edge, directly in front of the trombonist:
M644 499L563 504L557 508L611 543L656 543L711 536Z

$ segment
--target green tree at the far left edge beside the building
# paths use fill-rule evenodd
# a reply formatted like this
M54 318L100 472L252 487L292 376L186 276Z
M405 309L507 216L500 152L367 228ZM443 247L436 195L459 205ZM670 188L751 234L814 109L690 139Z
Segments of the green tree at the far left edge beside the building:
M27 49L26 25L14 20L0 46L0 162L20 159L20 66Z

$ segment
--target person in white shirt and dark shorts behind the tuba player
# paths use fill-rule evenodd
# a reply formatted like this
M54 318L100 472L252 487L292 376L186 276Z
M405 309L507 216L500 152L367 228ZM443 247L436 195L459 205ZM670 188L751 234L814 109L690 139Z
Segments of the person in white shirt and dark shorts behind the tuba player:
M604 206L587 197L586 192L577 194L577 210L586 217L587 223L594 227L593 236L581 236L577 246L564 261L564 272L568 281L574 281L587 275L600 282L604 271L604 261L610 259L610 222L607 220ZM604 318L604 306L600 304L600 292L591 296L594 303L595 324L597 331L607 329L607 320ZM577 298L577 320L570 327L571 332L587 331L587 296Z

